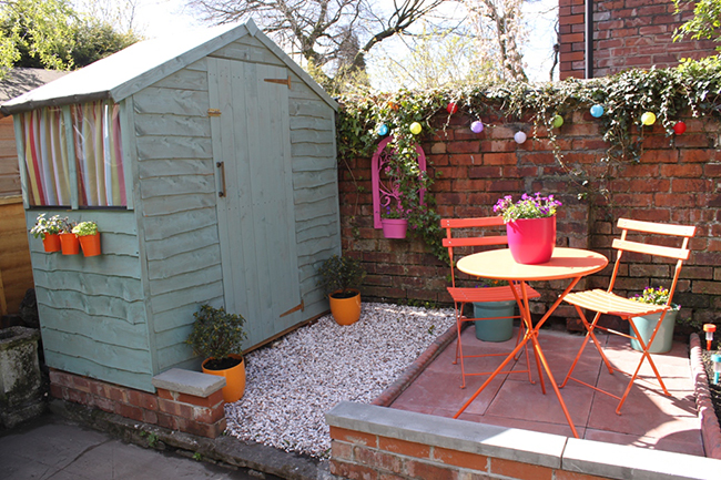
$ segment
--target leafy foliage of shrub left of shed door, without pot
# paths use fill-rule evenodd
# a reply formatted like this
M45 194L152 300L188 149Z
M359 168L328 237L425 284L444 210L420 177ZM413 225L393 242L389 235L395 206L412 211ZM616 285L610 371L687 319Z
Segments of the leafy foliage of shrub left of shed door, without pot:
M226 359L232 354L243 355L241 344L247 338L243 328L245 318L210 305L201 306L193 316L195 323L186 343L196 355L216 360Z

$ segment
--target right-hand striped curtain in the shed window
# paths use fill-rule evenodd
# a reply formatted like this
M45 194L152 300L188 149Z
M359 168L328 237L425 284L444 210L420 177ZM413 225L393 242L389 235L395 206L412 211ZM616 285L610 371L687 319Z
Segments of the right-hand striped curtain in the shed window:
M71 114L80 205L126 205L120 106L83 103L72 105Z

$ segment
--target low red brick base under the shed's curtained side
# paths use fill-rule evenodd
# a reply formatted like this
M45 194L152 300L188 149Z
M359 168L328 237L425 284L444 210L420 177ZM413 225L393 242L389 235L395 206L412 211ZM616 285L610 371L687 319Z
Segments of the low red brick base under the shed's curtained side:
M216 438L225 430L222 390L207 397L163 388L159 388L158 394L149 394L51 369L50 394L59 399L201 437Z

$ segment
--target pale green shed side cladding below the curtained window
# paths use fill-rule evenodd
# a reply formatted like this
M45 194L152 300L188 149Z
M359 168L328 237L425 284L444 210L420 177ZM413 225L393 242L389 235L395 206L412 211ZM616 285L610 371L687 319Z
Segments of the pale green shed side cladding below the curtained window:
M28 225L41 212L27 211ZM98 222L103 254L48 254L40 239L30 239L45 362L146 390L153 371L135 213L73 211L68 216Z

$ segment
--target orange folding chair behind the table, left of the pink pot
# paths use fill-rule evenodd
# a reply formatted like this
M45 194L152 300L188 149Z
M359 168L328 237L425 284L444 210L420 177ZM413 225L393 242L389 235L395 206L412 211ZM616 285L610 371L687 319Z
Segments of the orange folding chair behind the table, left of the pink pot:
M448 287L448 293L450 294L454 306L456 309L456 329L458 333L458 343L456 344L456 359L454 365L460 359L460 377L461 385L460 388L466 387L466 376L471 375L490 375L492 371L480 371L474 374L466 374L464 366L465 358L478 358L478 357L491 357L491 356L507 356L507 354L484 354L484 355L467 355L464 356L463 344L460 338L460 331L464 321L476 321L476 320L495 320L500 318L520 318L519 315L511 317L489 317L489 318L469 318L464 315L464 308L466 304L474 303L485 303L485 302L506 302L506 300L516 300L516 295L514 295L512 288L516 288L517 295L520 297L522 294L517 286L506 285L501 287L487 287L487 288L464 288L456 286L456 268L455 268L455 258L454 258L454 248L459 247L486 247L486 246L497 246L497 245L508 245L508 237L502 234L500 231L492 232L488 227L499 227L504 225L504 217L501 216L488 216L488 217L477 217L477 218L444 218L440 221L440 227L446 229L446 238L443 241L443 245L448 247L448 256L450 258L450 284ZM478 236L480 229L486 229L485 235ZM458 234L458 236L454 236ZM465 236L464 236L465 234ZM469 249L470 249L469 248ZM473 252L468 252L470 254ZM538 298L540 294L535 289L527 287L528 298ZM521 338L524 331L524 325L521 326L516 339L516 345ZM480 340L479 340L480 341ZM512 370L512 372L528 372L528 379L532 382L530 376L530 362L528 361L528 349L526 349L526 370ZM506 372L504 372L506 374Z

